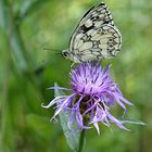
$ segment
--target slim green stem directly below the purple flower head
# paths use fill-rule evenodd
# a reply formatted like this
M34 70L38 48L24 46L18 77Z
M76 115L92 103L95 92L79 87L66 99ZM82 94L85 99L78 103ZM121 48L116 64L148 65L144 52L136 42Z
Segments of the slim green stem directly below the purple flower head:
M81 134L80 134L78 152L83 152L84 151L85 141L86 141L85 137L86 137L86 129L83 129Z

